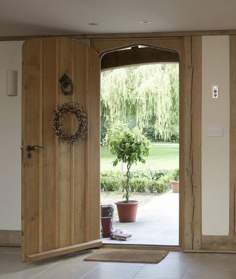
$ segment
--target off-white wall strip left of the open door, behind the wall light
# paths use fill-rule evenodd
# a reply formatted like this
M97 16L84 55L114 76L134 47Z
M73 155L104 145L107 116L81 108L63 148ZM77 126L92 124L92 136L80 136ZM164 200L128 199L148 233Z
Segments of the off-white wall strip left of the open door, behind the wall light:
M21 47L0 42L0 230L21 228ZM18 95L6 95L6 70L18 71Z

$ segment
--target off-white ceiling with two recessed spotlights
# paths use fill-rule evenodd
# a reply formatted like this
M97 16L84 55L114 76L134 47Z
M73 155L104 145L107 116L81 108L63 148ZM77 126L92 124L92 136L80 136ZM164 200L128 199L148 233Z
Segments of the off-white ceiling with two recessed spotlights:
M236 0L0 0L0 36L228 29Z

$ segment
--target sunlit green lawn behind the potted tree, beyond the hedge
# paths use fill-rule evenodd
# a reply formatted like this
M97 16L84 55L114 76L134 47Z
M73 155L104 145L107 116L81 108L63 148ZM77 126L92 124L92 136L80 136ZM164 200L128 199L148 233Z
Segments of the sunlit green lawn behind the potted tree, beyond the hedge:
M116 159L104 147L101 148L101 171L120 170L121 163L113 167L112 162ZM179 168L179 145L177 144L158 144L153 145L150 156L146 163L137 163L131 170L149 168L151 170L171 170Z

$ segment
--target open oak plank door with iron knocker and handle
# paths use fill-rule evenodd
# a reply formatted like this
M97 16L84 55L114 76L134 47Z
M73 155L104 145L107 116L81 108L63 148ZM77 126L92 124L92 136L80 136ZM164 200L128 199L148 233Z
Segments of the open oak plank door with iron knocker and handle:
M66 37L26 41L22 50L22 261L102 245L100 240L100 58ZM74 92L64 95L66 73ZM70 87L69 87L70 88ZM62 143L53 130L57 106L78 102L88 139ZM74 134L78 120L63 120ZM28 158L27 146L38 145Z

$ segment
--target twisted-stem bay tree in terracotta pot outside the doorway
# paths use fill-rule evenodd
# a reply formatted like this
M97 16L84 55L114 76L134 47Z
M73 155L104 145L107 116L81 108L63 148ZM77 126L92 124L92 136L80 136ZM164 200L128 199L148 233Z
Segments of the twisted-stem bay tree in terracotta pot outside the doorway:
M116 203L119 222L134 222L138 201L129 199L130 168L134 163L145 163L145 158L149 156L151 151L151 142L142 135L137 127L133 131L126 128L116 136L107 137L106 140L111 153L117 156L113 166L117 166L118 162L121 162L127 167L125 195L123 196L125 199Z

